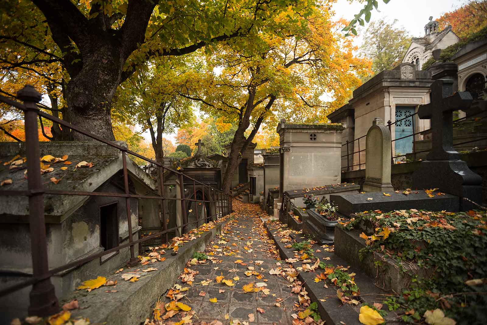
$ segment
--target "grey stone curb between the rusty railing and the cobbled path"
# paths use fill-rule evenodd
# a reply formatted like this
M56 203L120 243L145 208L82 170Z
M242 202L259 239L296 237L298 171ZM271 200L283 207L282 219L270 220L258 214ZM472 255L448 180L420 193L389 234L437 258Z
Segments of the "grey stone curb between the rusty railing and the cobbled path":
M228 218L216 224L215 228L202 233L201 237L185 243L175 256L171 256L168 250L168 253L164 255L166 257L164 262L124 268L123 272L119 274L106 275L107 279L118 281L116 287L100 287L89 293L80 290L64 297L62 301L68 302L77 299L80 308L88 306L86 309L75 309L71 312L72 318L86 317L91 324L134 325L144 323L146 318L152 314L154 303L176 283L193 253L204 251L212 238L221 233L227 222ZM122 273L141 268L158 268L158 270L148 272L146 279L134 283L124 281L119 276ZM113 288L121 288L121 290L117 290L118 292L115 293L105 292L105 290Z

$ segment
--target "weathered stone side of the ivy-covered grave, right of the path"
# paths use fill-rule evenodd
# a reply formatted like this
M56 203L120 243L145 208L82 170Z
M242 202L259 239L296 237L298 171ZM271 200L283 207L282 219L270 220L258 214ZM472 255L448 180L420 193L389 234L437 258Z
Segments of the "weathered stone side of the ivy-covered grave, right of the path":
M412 264L398 265L392 259L388 259L382 253L367 253L360 256L360 249L366 247L365 241L359 237L360 230L344 230L335 228L335 253L356 268L360 268L365 274L374 279L377 286L384 290L402 292L409 287L412 274L419 279L427 276L428 271ZM401 271L405 269L405 272Z

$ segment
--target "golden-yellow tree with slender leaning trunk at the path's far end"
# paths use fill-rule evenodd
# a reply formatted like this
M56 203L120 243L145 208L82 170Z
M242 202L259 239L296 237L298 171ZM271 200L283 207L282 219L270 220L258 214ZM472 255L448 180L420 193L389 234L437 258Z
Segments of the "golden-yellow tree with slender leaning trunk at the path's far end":
M205 87L185 94L204 112L237 126L222 182L226 192L264 120L279 111L297 120L323 114L328 107L319 96L334 90L337 98L347 98L360 83L357 72L366 68L365 60L353 56L351 44L341 41L329 3L288 12L277 22L277 34L261 32L220 44L207 57Z

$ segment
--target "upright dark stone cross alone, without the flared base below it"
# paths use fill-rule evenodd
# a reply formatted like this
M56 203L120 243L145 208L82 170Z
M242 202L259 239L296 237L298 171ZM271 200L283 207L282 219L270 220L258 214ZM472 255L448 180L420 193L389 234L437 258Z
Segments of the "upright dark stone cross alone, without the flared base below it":
M473 98L469 92L452 93L453 80L438 79L431 85L431 102L418 108L419 118L431 118L433 140L428 160L460 158L453 148L453 111L467 111Z

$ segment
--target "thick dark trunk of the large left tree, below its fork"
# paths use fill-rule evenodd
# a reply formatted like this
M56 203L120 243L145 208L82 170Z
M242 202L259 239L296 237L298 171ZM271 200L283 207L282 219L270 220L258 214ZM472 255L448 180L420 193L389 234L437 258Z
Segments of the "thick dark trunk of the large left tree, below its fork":
M67 85L65 119L105 140L115 140L110 107L125 61L109 44L96 45L97 50L84 57L83 68ZM72 135L75 140L92 140L78 132Z

